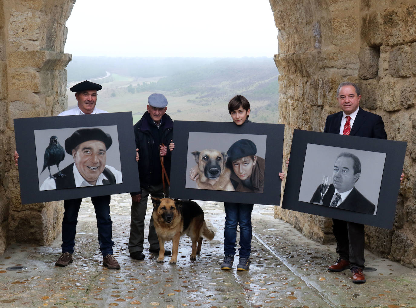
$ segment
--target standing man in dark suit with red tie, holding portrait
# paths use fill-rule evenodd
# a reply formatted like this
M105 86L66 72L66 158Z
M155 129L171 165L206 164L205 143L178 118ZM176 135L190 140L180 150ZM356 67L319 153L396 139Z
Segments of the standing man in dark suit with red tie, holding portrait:
M359 108L360 90L356 84L343 82L338 86L337 101L342 111L327 117L324 133L387 139L381 116ZM364 224L332 219L337 240L337 262L329 271L351 269L354 283L364 283Z

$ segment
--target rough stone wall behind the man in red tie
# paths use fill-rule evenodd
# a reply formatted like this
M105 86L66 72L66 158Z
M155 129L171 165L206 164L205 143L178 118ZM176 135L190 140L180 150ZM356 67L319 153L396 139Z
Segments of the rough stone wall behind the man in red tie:
M339 111L337 86L359 84L360 106L383 117L391 140L407 141L406 178L392 230L366 226L366 246L416 266L416 1L270 0L279 29L280 121L285 153L293 129L323 131ZM275 208L275 217L320 242L333 239L330 219Z

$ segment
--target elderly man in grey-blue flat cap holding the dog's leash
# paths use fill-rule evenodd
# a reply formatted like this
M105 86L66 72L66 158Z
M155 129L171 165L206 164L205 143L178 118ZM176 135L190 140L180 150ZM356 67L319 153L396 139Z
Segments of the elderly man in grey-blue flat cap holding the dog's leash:
M171 153L167 145L172 140L173 121L166 114L168 101L163 94L154 93L147 100L147 111L139 122L134 125L136 148L139 148L140 192L131 192L131 225L129 252L133 259L144 259L144 218L146 216L147 198L163 198L163 179L161 157L169 176L171 170ZM165 192L168 192L166 184ZM166 197L168 197L166 195ZM159 253L159 241L153 225L149 224L149 251ZM171 251L165 249L165 255Z

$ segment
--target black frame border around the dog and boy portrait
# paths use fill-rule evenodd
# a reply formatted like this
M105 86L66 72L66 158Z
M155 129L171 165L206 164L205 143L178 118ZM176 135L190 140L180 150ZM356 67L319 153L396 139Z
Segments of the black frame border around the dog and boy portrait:
M175 121L175 129L173 130L175 149L172 152L170 197L264 205L279 204L281 180L278 172L282 170L284 130L285 126L283 124L245 123L242 126L237 126L232 122ZM238 140L245 138L245 136L253 137L253 135L265 136L263 192L187 188L186 181L189 178L188 160L190 156L192 157L191 152L193 150L203 150L203 148L188 149L190 133L213 134L213 138L211 137L206 143L203 140L201 143L206 144L206 148L216 148L224 152L227 152L233 141L227 141L229 144L224 141L228 146L222 149L217 148L217 144L210 146L212 143L220 143L219 140L224 137L224 134L230 134L230 140ZM256 140L253 140L253 142L256 142ZM263 146L257 147L263 148ZM196 165L195 161L194 164Z

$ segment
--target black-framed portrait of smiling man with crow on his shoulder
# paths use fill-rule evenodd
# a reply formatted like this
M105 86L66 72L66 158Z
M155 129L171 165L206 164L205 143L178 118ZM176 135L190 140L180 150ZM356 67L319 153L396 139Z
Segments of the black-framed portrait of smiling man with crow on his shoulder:
M138 191L132 123L131 112L15 119L22 204Z

